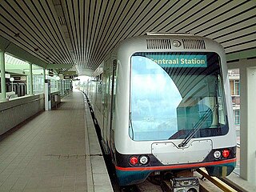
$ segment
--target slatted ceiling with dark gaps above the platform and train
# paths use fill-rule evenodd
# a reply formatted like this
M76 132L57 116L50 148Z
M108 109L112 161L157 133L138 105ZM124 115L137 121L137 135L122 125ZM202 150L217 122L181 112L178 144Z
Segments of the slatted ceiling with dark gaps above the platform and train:
M255 0L0 0L0 36L90 74L119 41L149 31L213 38L227 54L255 50L255 13Z

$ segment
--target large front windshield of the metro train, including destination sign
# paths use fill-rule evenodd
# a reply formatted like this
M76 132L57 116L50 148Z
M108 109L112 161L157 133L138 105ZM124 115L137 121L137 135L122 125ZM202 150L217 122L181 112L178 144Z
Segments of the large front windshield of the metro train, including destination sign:
M216 53L136 53L131 57L130 138L184 139L226 134Z

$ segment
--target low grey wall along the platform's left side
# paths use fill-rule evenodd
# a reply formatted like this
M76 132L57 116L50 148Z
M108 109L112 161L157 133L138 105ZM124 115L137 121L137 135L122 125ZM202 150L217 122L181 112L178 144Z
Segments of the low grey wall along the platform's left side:
M0 102L0 135L44 110L44 94Z

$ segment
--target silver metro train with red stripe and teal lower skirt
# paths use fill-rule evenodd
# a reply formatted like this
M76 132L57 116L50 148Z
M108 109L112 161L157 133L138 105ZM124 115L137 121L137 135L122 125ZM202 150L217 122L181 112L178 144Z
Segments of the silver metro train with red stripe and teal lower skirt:
M226 55L210 38L147 34L119 42L86 86L120 186L236 165Z

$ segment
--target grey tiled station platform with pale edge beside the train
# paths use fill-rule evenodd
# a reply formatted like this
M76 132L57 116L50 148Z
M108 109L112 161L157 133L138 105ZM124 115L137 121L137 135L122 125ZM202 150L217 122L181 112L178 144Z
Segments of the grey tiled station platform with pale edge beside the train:
M81 92L0 137L1 192L113 191Z

